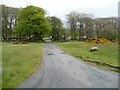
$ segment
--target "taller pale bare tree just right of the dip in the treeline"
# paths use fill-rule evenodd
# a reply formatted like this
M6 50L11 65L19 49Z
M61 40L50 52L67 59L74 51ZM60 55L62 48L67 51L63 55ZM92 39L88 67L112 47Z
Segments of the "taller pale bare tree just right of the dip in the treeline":
M79 40L93 36L94 15L72 11L66 16L73 40L76 39L76 33L79 33Z

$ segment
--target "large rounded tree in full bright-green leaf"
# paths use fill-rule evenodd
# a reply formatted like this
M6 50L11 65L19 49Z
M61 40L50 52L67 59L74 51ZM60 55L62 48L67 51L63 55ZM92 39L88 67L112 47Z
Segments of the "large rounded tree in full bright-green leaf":
M22 8L18 16L18 25L16 27L16 35L20 39L42 40L48 36L51 27L45 17L45 10L36 6L27 6Z

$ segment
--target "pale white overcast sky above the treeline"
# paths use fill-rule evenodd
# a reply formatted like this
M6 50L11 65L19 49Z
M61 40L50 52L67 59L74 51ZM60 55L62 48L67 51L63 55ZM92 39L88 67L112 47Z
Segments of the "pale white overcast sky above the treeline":
M92 13L97 17L118 16L120 0L0 0L0 4L12 7L34 5L44 8L50 16L62 20L70 11Z

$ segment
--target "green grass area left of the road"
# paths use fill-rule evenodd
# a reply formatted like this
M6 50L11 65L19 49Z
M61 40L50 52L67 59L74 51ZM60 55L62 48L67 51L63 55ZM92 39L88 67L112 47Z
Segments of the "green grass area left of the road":
M2 88L17 87L37 71L44 44L2 44Z

